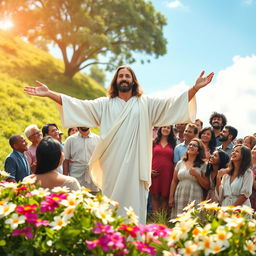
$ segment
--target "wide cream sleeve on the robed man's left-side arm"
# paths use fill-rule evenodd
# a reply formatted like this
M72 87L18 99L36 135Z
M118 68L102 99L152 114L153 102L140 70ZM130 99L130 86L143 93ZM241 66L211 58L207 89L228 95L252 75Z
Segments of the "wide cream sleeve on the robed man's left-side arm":
M62 94L62 106L58 105L63 127L97 127L101 124L101 116L107 97L95 100L79 100Z

